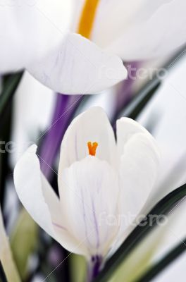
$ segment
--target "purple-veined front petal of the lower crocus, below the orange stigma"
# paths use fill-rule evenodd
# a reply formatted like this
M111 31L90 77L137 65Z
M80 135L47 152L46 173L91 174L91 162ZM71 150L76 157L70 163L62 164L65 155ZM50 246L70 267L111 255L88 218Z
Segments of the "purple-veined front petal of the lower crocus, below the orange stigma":
M88 156L64 169L58 180L68 229L84 242L90 255L104 256L118 231L116 172L106 161Z

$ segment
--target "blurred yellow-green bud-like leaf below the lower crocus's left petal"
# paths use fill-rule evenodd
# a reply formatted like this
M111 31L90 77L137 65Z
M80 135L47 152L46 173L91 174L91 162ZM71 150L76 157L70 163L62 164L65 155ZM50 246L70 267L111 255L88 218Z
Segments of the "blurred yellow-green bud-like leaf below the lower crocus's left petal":
M28 258L36 250L38 233L37 224L22 209L11 235L11 249L21 278L27 277Z

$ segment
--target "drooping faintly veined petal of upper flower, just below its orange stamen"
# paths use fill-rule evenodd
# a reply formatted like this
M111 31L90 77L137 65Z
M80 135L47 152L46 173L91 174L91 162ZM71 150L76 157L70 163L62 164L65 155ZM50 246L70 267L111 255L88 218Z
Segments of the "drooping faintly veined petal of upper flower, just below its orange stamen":
M73 33L67 33L58 47L27 70L44 85L65 94L99 92L127 76L118 56Z

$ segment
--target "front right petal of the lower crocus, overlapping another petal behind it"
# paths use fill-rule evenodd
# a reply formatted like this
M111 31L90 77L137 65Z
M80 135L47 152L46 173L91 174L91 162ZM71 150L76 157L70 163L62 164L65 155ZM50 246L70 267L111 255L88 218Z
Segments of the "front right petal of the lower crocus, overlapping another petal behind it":
M140 212L154 187L158 166L156 145L146 135L139 133L125 145L120 164L123 214Z

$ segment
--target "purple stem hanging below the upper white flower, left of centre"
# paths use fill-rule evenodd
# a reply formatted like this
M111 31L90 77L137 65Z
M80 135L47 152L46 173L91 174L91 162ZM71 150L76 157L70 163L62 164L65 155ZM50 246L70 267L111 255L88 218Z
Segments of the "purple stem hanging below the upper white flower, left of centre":
M56 106L51 120L51 125L43 136L39 149L39 160L42 172L48 180L51 180L56 156L61 146L63 135L75 114L77 105L80 104L80 95L57 94Z

